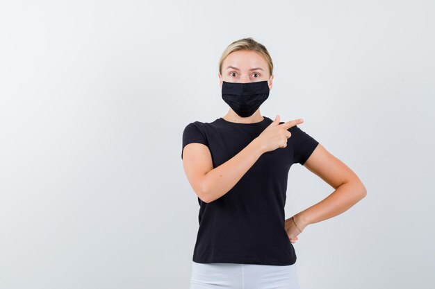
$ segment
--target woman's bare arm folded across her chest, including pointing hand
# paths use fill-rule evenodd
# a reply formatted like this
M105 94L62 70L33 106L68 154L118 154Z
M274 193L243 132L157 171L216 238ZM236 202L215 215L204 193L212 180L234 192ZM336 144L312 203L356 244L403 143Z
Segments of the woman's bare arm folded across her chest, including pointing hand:
M237 155L213 168L211 152L202 143L189 143L183 148L183 168L192 189L203 202L213 202L237 184L264 152L285 148L291 136L288 131L300 120L279 124L279 116L268 128Z

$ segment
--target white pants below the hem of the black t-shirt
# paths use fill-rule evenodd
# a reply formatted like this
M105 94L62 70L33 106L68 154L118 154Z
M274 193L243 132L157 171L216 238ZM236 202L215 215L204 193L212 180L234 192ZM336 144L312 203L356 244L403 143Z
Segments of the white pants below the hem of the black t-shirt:
M190 289L300 289L296 263L257 265L192 261Z

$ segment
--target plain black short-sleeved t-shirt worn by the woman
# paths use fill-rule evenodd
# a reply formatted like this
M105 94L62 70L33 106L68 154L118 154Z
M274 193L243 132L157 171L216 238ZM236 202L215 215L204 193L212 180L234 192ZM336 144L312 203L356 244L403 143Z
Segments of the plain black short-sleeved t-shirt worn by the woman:
M183 131L188 143L208 146L213 168L243 150L272 123L233 123L222 118L211 123L195 121ZM284 122L281 122L284 123ZM199 202L199 229L192 260L197 263L292 265L293 244L284 229L288 170L304 164L318 141L297 125L288 129L286 148L265 152L233 186L213 202Z

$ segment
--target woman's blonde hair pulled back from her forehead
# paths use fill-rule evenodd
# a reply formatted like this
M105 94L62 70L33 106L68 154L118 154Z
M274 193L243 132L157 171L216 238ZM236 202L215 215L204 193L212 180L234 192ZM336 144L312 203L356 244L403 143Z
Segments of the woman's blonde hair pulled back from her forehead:
M227 56L230 53L233 53L234 51L239 51L239 50L250 50L250 51L255 51L256 53L260 54L264 60L266 62L268 62L268 67L269 67L269 73L270 76L273 73L273 62L272 62L272 58L270 58L270 54L268 49L265 48L265 46L261 43L256 42L255 40L252 39L252 37L247 37L247 38L242 38L240 40L236 40L234 42L232 42L231 44L229 44L229 46L227 46L227 48L224 50L224 52L222 53L222 56L220 57L219 60L219 73L222 74L222 64L224 63L225 58L227 58Z

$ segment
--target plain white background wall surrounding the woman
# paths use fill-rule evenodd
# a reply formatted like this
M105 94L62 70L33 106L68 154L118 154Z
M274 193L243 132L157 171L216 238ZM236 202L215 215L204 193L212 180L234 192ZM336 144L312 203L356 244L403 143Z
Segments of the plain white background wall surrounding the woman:
M306 227L302 289L434 288L433 1L1 1L0 288L188 288L181 134L229 107L217 62L264 44L261 114L368 195ZM332 188L290 169L286 216Z

